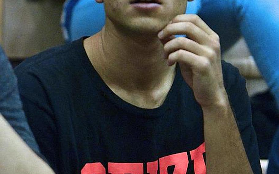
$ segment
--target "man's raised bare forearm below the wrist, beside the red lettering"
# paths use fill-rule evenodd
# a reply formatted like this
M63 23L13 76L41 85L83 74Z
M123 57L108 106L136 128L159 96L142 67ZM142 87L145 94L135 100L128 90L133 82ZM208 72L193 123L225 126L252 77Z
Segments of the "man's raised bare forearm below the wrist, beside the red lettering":
M227 97L202 110L207 173L253 173Z

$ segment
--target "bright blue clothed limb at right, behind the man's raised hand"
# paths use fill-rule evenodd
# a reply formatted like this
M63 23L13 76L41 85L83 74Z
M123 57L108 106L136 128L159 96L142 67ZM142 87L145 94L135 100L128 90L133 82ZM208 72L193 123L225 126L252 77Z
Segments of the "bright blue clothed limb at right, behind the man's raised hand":
M219 34L222 51L242 35L279 108L277 0L201 0L198 15ZM229 26L229 27L228 27Z

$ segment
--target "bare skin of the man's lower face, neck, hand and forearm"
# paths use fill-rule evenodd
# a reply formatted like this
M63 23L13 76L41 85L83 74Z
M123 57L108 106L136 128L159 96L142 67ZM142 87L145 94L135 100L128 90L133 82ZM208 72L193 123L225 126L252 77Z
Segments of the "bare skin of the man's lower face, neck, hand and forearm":
M128 103L157 108L178 64L203 110L207 173L253 173L224 88L219 37L198 16L184 14L187 1L162 0L148 12L129 0L96 1L104 2L106 24L84 47L109 88Z

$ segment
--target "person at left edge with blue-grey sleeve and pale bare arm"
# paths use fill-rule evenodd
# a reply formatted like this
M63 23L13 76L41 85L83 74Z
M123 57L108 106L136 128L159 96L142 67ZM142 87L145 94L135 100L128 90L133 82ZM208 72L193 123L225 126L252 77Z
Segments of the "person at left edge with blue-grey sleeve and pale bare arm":
M29 128L19 98L17 79L0 47L0 173L53 174Z

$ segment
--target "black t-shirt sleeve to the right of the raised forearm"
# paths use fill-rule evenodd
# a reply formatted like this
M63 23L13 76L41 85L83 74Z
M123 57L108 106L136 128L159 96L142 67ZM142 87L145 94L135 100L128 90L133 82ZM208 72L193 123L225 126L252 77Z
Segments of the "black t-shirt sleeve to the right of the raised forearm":
M222 62L224 85L235 115L241 139L254 174L261 174L258 142L251 118L250 99L246 81L239 70L229 63Z

